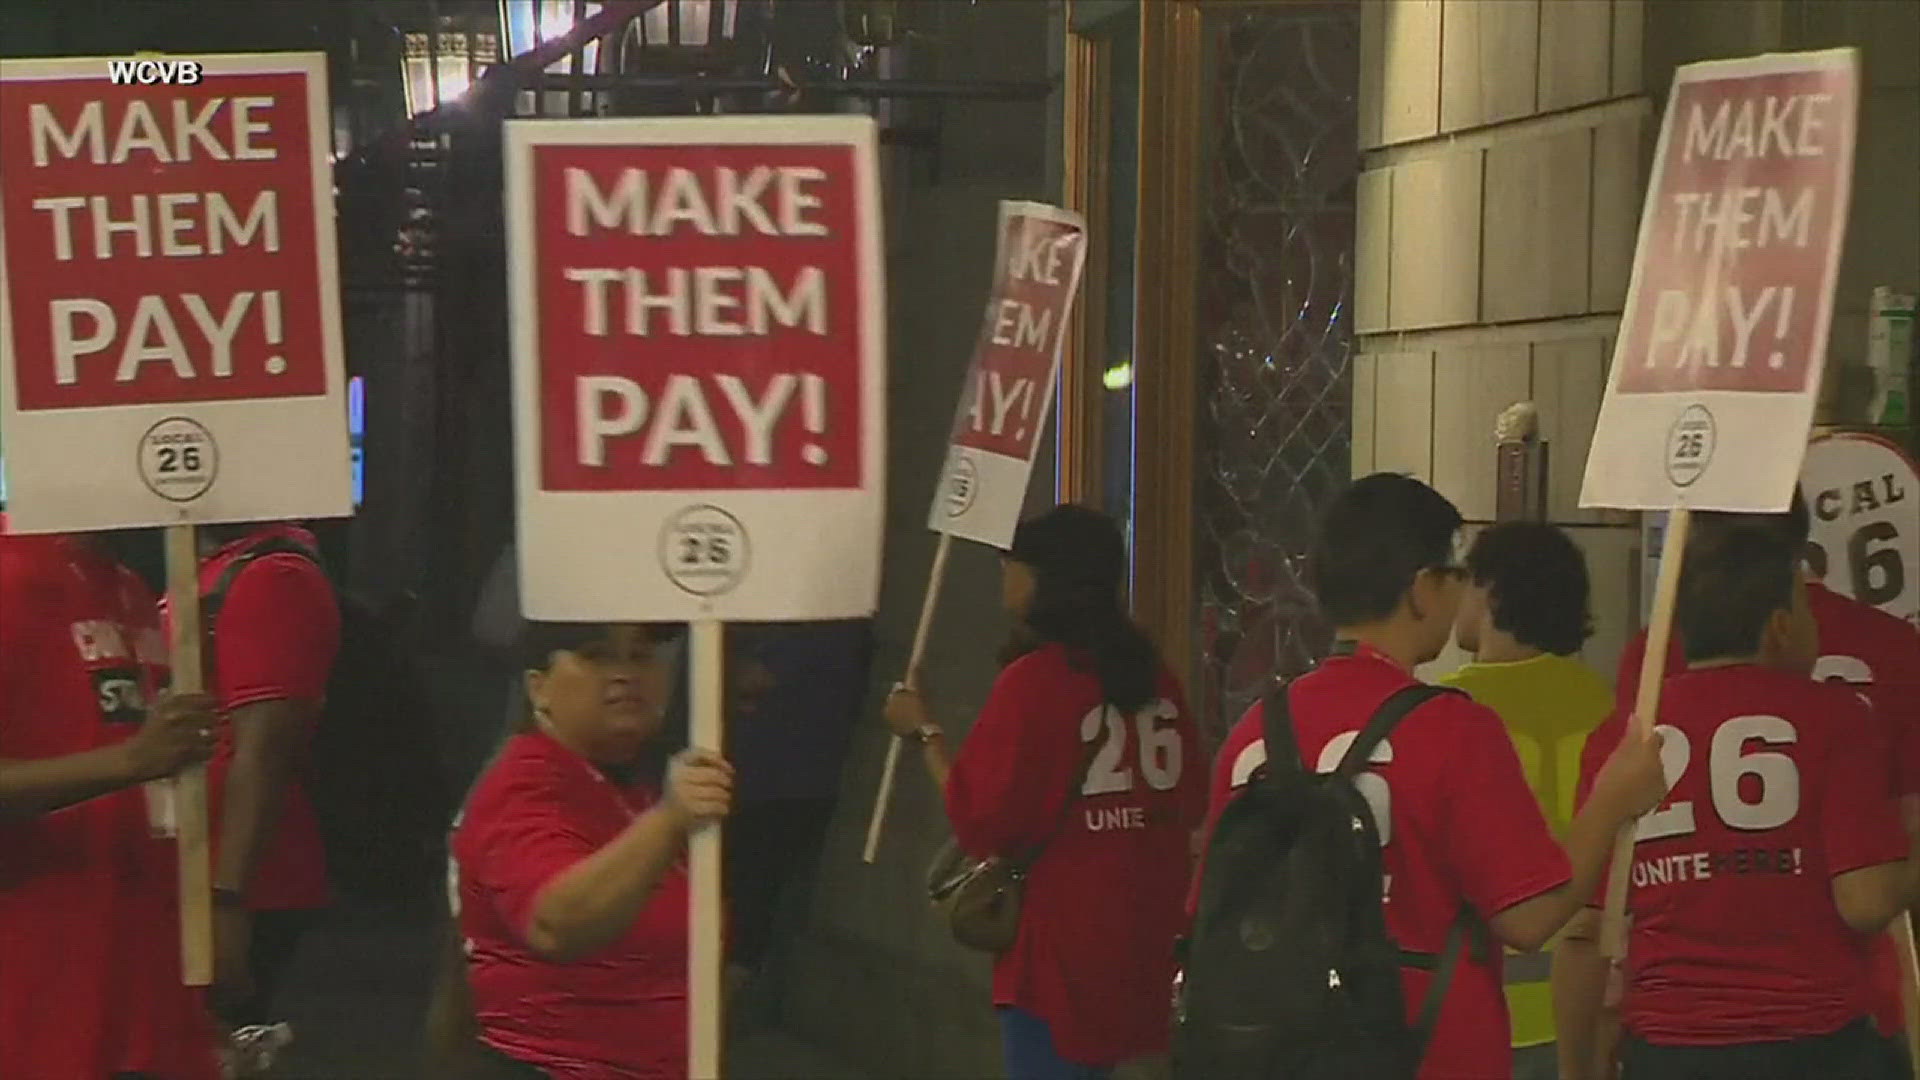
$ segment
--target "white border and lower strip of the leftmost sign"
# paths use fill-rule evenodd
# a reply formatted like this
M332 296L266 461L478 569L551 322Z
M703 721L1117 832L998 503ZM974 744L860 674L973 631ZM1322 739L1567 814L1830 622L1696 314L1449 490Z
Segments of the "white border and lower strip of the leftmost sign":
M0 79L8 83L98 79L108 81L113 58L0 60ZM121 58L125 60L125 58ZM8 467L8 532L92 532L106 528L146 528L159 525L223 525L240 521L288 521L349 517L353 513L353 463L348 438L346 340L340 321L340 254L334 233L332 131L326 54L259 52L194 56L204 75L305 75L307 144L313 179L313 258L321 288L321 359L326 390L303 398L252 398L227 402L184 402L163 405L104 405L83 409L21 411L15 402L13 311L8 286L6 221L0 213L0 440ZM190 417L217 438L221 477L192 503L177 503L150 492L138 469L108 480L100 473L108 461L132 461L138 450L127 432L144 432L169 417ZM125 444L123 455L119 444ZM23 463L27 450L96 448L88 457L102 461L100 473L36 469ZM23 450L25 448L25 450ZM108 452L104 448L115 448ZM336 457L336 469L315 461ZM246 461L253 475L234 477ZM271 463L278 477L261 477Z

